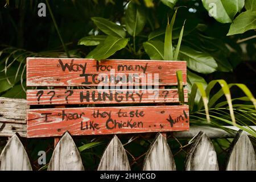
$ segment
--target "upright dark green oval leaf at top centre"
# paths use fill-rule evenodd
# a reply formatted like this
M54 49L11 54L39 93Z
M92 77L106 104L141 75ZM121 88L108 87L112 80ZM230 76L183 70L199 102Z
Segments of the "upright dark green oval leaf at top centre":
M131 36L138 35L146 24L146 14L144 9L130 2L125 12L126 30Z

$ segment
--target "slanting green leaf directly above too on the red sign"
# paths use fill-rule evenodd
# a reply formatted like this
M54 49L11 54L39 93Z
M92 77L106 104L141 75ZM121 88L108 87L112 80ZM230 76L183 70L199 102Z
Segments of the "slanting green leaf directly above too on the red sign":
M86 57L93 58L96 60L107 59L112 56L115 52L119 51L128 43L128 39L117 38L115 36L108 36L104 43L98 45L92 52Z

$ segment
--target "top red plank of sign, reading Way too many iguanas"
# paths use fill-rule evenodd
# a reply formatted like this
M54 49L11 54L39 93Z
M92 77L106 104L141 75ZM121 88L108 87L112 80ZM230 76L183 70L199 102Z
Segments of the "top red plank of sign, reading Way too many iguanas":
M177 85L178 70L183 71L183 85L186 85L185 61L102 60L98 63L94 59L28 57L27 86L97 86L103 81L110 85L106 78L113 85L131 81L134 85Z

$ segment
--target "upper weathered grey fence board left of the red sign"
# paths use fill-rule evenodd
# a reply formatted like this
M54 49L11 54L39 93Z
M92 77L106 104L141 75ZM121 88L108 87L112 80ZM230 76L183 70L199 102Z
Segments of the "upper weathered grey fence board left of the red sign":
M0 97L0 122L26 123L27 101Z

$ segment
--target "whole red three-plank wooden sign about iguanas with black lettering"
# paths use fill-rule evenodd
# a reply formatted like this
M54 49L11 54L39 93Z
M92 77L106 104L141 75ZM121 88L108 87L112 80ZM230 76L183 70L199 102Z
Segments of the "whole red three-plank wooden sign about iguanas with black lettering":
M28 105L55 105L27 110L27 137L60 137L66 131L71 135L186 131L187 105L152 106L179 103L177 88L165 89L163 85L177 85L176 72L180 70L185 85L185 61L27 58L27 86L59 86L27 90ZM187 102L186 89L184 98ZM65 108L85 104L113 106Z

